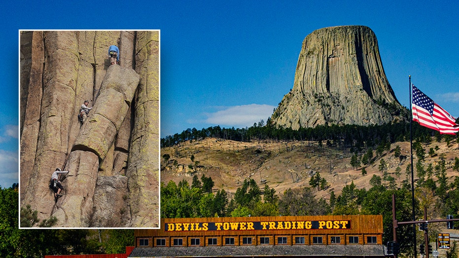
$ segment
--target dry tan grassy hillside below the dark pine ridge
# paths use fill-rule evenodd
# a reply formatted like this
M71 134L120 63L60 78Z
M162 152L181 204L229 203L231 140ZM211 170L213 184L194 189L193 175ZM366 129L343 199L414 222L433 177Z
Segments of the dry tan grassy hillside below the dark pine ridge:
M399 146L401 156L395 155L395 147ZM446 159L446 175L448 181L453 181L458 172L453 170L455 157L459 157L459 148L456 142L447 146L445 142L436 142L432 138L429 145L423 145L425 150L424 167L429 163L435 166L439 157ZM430 156L429 149L435 153ZM362 150L357 154L360 158L366 152ZM244 179L253 178L257 184L268 184L276 190L277 194L283 193L288 188L310 186L311 177L320 173L320 177L327 182L324 189L315 189L318 198L328 199L333 190L339 195L346 184L353 182L357 188L370 188L369 181L373 175L383 178L379 167L381 159L387 164L387 172L395 178L397 186L403 180L411 182L411 176L406 174L406 167L410 164L410 143L396 142L390 145L390 150L385 150L381 156L376 156L368 165L361 165L357 169L351 166L349 148L320 145L318 142L307 141L256 141L236 142L216 138L206 138L200 141L187 141L174 147L161 149L161 156L169 154L167 160L161 158L161 182L176 183L186 179L191 184L193 175L211 177L215 182L215 189L225 189L231 194L242 184ZM414 154L414 174L416 175L417 156ZM401 174L396 175L396 168L400 167ZM367 174L362 175L362 168ZM433 176L433 179L437 179ZM384 182L383 184L388 184ZM262 186L261 186L262 187Z

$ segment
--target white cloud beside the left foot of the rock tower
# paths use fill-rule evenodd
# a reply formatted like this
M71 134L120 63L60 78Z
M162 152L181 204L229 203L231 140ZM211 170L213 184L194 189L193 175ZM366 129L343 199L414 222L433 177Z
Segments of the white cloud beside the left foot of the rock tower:
M263 119L271 116L274 106L250 104L243 106L228 107L225 110L208 113L207 123L216 125L226 125L234 127L252 126Z

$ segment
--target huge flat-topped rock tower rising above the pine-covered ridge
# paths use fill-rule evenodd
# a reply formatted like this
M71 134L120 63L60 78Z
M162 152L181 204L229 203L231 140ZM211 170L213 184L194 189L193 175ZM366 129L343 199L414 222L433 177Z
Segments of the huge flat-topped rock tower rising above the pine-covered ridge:
M373 31L339 26L316 30L304 39L293 88L271 120L292 129L384 124L401 119L402 109L384 73Z

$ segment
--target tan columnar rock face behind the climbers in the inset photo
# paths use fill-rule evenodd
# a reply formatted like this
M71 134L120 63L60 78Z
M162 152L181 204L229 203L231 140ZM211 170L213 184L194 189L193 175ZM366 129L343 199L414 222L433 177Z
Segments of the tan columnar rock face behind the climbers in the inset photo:
M59 227L158 226L159 32L21 32L20 80L21 206Z

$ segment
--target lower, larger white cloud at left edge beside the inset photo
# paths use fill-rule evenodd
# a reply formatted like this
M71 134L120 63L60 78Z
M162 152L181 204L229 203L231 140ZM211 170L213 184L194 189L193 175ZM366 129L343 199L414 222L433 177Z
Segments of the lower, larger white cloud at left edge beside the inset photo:
M19 183L18 153L0 150L0 186L8 188Z

